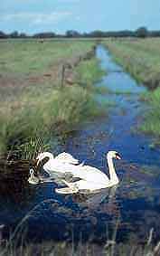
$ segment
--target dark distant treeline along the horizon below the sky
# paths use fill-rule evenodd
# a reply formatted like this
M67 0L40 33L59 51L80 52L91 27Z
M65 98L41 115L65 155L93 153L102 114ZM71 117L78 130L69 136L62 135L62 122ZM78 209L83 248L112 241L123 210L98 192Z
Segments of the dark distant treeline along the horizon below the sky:
M139 27L136 31L123 30L123 31L110 31L104 32L96 30L90 33L79 33L75 30L69 30L65 34L58 34L53 32L44 32L44 33L34 33L29 35L26 33L18 33L14 31L13 33L4 33L0 31L0 39L5 38L76 38L76 37L158 37L160 36L160 31L149 31L146 27Z

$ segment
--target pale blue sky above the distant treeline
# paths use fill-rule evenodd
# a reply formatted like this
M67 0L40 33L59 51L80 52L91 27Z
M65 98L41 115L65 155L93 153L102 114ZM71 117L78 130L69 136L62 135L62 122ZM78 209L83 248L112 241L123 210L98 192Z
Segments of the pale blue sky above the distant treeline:
M0 31L160 30L160 0L1 0Z

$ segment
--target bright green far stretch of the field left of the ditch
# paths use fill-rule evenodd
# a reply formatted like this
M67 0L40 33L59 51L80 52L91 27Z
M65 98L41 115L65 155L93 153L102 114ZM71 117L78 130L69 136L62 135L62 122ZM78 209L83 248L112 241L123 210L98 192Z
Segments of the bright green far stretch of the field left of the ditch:
M49 71L90 50L94 43L80 41L8 40L0 43L0 70L11 77L26 77Z

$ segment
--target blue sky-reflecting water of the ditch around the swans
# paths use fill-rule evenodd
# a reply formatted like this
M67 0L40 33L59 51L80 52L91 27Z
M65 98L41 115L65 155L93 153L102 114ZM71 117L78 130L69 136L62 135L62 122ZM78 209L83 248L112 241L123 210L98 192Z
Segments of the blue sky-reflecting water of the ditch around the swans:
M118 219L118 240L130 232L143 240L152 227L159 235L160 150L149 148L151 137L133 132L141 119L140 111L144 111L138 101L138 93L145 89L138 87L136 81L112 62L102 47L98 48L97 56L102 67L109 71L97 86L105 84L112 91L130 90L131 94L105 95L105 98L116 101L116 108L111 110L109 117L95 120L72 134L61 151L65 150L81 161L85 160L86 164L106 171L106 152L118 150L123 158L116 163L120 179L118 188L102 190L94 195L61 196L54 194L55 184L30 185L25 189L17 186L14 193L12 183L10 186L7 184L8 192L0 195L1 223L12 224L40 204L29 221L31 236L33 233L43 236L45 232L44 238L55 238L56 235L64 238L65 232L70 236L69 227L72 227L76 233L82 232L88 238L92 234L97 241L105 241L107 229L113 230ZM48 201L41 203L45 200Z

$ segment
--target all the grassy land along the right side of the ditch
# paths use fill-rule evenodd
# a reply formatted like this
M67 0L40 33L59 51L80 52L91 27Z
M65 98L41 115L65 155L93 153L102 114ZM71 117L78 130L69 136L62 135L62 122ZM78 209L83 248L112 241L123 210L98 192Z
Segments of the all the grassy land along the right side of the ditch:
M142 131L160 137L160 38L110 39L103 42L114 59L149 91L143 97L149 103Z

